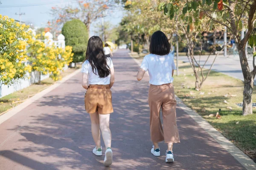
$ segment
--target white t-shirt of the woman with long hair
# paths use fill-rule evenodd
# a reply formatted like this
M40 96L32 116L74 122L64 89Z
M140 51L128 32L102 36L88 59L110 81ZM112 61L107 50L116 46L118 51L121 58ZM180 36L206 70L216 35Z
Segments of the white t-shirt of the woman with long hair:
M111 58L109 58L109 57L107 57L107 64L108 64L109 68L113 68L113 62L112 62ZM81 72L89 73L89 84L90 85L109 85L110 84L111 75L109 74L108 77L100 78L97 69L96 69L96 71L94 70L94 72L96 72L96 74L93 73L93 68L90 65L90 62L88 60L84 61L83 65L82 65Z

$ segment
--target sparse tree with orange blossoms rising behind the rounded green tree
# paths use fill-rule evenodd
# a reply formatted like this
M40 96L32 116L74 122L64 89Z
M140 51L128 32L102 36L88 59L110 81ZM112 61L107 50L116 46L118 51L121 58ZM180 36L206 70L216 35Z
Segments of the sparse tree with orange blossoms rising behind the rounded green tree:
M90 34L90 25L100 17L105 17L106 10L116 6L119 0L77 0L74 6L52 7L52 15L61 26L69 20L81 20Z

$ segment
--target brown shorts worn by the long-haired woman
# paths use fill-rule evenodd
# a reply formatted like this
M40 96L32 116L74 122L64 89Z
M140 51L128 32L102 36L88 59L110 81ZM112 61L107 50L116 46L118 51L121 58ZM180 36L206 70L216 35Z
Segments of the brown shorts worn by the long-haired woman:
M90 85L84 96L87 113L113 113L112 93L109 85Z

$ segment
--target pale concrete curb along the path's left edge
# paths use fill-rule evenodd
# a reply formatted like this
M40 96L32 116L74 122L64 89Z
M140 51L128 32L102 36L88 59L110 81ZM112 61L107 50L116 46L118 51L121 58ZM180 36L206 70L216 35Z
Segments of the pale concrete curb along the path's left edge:
M16 107L12 108L10 111L6 112L5 114L3 114L2 116L0 116L0 125L5 122L6 120L8 120L9 118L11 118L12 116L14 116L15 114L17 114L18 112L20 112L21 110L23 110L24 108L26 108L28 105L30 105L32 102L35 102L36 100L38 100L39 98L41 98L42 96L44 96L45 94L49 93L50 91L52 91L53 89L57 88L59 85L61 85L62 83L64 83L65 81L67 81L68 79L70 79L71 77L75 76L76 74L78 74L80 72L81 69L78 69L76 71L74 71L73 73L67 75L66 77L64 77L62 80L56 82L53 85L50 85L49 87L47 87L46 89L44 89L43 91L39 92L38 94L35 94L34 96L32 96L29 99L26 99L25 102L21 103L20 105L17 105Z

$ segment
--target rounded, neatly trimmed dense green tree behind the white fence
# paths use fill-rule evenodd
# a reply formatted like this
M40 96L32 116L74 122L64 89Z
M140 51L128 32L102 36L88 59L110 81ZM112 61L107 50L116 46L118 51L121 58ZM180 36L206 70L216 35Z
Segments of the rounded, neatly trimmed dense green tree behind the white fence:
M84 23L77 19L67 21L62 28L62 34L65 36L66 45L73 47L73 61L83 61L89 37Z

